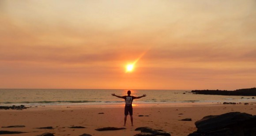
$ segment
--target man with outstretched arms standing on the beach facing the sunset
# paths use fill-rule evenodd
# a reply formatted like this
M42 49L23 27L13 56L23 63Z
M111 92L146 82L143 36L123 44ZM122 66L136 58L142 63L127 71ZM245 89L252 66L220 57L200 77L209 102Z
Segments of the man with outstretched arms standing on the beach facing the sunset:
M133 126L133 117L132 117L132 100L133 99L139 99L141 97L146 97L146 94L143 94L143 96L140 97L134 97L131 96L131 91L128 90L127 91L128 96L117 96L115 93L112 93L112 96L118 97L118 98L123 98L125 100L125 107L124 107L124 126L126 124L126 119L127 119L127 115L130 115L131 117L131 122L132 122L132 126Z

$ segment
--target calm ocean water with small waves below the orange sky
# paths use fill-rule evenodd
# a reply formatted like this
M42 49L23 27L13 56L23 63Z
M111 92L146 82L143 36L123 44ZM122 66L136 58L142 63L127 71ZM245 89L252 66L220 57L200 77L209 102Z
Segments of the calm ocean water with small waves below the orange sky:
M127 95L127 89L0 89L0 105L111 105L124 104L124 100L113 97ZM133 104L182 104L255 102L252 97L220 96L190 93L191 90L142 90L131 89ZM243 97L243 98L242 98Z

